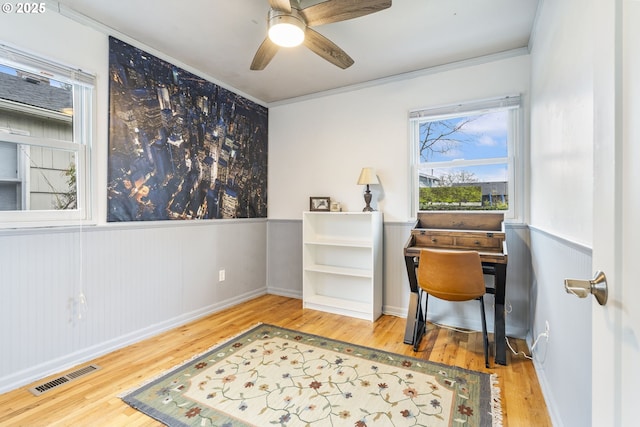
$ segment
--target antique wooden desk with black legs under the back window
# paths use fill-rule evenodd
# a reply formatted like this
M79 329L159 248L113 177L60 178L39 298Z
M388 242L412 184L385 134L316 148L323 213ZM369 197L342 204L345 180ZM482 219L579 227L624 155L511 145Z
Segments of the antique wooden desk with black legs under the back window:
M505 293L507 278L507 244L504 235L502 214L485 213L420 213L404 247L404 258L411 290L409 312L404 333L404 343L413 345L416 318L423 331L426 322L422 306L418 307L418 279L416 268L422 248L447 250L477 250L485 274L494 276L494 288L488 293L495 295L494 343L495 362L507 364L505 331ZM418 313L416 313L418 310Z

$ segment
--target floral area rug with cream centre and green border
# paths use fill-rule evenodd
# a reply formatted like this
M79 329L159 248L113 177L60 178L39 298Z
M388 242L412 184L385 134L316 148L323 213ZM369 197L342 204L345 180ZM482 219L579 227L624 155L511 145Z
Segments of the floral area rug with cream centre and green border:
M499 426L495 377L260 324L122 399L169 426Z

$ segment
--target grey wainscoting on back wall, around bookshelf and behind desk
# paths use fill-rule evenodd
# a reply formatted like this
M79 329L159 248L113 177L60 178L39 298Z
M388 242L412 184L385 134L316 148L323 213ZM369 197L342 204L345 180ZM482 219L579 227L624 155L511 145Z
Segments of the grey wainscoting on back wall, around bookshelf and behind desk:
M406 317L409 304L409 281L403 249L409 238L413 222L385 222L383 306L385 314ZM268 290L269 293L302 296L302 221L269 220L268 224ZM507 246L507 335L525 338L529 330L529 295L531 254L529 231L523 225L508 225ZM487 280L491 280L489 277ZM462 304L452 314L450 305L434 301L430 311L438 322L480 330L477 306ZM488 313L493 312L493 299L486 299ZM493 328L493 316L487 316Z

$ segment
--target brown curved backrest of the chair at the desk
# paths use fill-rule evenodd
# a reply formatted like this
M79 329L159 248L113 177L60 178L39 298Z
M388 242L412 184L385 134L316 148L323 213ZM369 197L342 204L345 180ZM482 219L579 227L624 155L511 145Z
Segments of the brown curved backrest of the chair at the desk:
M476 251L422 249L418 286L449 301L468 301L485 294L482 262Z

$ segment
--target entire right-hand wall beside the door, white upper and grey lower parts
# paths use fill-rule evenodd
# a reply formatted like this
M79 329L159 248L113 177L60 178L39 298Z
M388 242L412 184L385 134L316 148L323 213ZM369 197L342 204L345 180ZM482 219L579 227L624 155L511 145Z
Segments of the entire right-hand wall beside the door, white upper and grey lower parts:
M594 0L595 1L595 0ZM591 301L564 291L591 277L593 1L543 1L531 53L532 331L554 425L591 425Z

